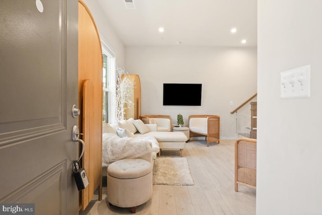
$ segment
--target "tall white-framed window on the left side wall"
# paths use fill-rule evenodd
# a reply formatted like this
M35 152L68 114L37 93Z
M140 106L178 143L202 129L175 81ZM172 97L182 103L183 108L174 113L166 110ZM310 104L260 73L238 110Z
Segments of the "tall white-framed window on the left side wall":
M113 102L115 94L115 57L102 42L103 55L103 123L115 120L116 107Z

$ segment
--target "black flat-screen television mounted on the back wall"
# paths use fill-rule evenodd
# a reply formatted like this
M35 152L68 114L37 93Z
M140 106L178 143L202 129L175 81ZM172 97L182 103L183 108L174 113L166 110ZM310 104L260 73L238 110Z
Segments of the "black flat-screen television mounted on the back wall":
M163 105L201 106L201 84L163 84Z

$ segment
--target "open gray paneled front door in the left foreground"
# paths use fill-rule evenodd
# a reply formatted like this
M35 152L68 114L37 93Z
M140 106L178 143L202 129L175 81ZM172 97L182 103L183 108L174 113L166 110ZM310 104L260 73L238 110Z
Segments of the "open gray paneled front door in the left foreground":
M77 0L0 0L0 202L78 214Z

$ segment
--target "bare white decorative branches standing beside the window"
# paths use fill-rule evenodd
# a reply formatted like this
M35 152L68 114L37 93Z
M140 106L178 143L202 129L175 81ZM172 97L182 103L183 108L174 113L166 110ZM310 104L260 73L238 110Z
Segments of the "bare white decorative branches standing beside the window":
M135 83L129 80L129 74L124 68L116 68L116 106L117 120L125 119L125 110L134 106L130 100L131 91Z

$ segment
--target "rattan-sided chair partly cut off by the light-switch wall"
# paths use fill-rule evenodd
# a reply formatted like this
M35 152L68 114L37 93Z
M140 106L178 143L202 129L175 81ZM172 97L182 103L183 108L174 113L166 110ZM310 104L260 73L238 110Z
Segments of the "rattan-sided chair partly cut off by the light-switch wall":
M256 189L257 139L239 138L235 142L235 191L238 184Z

